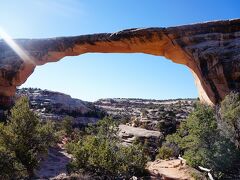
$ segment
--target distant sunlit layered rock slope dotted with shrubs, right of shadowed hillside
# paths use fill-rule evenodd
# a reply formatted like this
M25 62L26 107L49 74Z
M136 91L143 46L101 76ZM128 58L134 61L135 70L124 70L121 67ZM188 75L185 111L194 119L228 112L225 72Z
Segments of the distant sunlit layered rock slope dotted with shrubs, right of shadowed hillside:
M182 120L194 109L196 99L99 99L94 105L123 124L161 131L164 135L174 133Z

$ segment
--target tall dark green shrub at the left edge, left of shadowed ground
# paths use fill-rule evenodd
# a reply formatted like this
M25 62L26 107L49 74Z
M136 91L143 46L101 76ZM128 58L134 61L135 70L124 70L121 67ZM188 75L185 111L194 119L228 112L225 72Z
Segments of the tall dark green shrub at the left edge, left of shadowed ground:
M30 110L27 98L16 102L7 123L0 126L1 147L10 152L14 163L20 163L24 167L22 171L26 171L29 177L34 176L40 156L45 154L54 142L53 124L41 123Z

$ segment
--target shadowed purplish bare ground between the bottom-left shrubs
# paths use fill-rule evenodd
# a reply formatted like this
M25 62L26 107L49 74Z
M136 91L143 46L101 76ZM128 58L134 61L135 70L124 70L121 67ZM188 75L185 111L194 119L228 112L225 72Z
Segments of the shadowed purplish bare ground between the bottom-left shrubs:
M57 179L67 175L66 165L71 156L63 148L50 148L48 156L41 162L40 169L36 171L37 179Z

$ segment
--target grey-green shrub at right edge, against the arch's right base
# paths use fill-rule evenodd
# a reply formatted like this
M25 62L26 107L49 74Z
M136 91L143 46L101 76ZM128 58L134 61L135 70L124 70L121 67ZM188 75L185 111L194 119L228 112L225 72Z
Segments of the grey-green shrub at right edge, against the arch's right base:
M231 92L221 102L219 128L240 148L240 93Z

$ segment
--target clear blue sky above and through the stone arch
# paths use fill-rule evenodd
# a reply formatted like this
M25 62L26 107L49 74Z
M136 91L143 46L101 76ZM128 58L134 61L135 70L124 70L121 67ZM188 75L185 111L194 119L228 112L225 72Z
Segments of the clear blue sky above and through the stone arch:
M45 38L134 27L240 18L240 0L0 0L0 26L13 38ZM107 97L197 97L190 71L158 56L84 54L37 67L22 87L94 101Z

